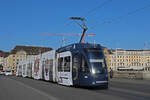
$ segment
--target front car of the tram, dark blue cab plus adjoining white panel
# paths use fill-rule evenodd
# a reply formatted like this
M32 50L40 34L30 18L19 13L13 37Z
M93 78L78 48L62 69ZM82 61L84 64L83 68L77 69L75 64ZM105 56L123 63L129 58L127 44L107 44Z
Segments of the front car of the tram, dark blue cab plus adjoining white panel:
M99 44L76 43L57 50L58 83L108 88L108 72Z

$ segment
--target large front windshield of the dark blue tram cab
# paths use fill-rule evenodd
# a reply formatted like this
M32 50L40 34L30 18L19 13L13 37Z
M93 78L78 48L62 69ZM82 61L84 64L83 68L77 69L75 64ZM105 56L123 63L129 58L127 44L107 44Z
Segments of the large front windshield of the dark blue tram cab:
M86 49L85 50L88 59L91 65L91 73L92 74L100 74L103 73L104 68L106 67L104 62L104 54L100 49Z

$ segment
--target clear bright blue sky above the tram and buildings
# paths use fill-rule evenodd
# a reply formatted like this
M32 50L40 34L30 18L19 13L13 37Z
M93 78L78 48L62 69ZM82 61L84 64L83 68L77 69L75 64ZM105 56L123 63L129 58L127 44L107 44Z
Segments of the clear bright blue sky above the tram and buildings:
M150 0L0 0L0 50L16 45L54 49L79 42L79 36L41 33L82 33L70 17L84 17L86 42L109 49L150 49ZM144 43L146 47L144 47Z

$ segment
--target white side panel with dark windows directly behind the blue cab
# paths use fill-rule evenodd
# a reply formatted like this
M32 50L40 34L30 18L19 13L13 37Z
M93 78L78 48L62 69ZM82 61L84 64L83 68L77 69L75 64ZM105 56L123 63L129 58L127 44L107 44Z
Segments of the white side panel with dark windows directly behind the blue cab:
M58 84L73 85L72 55L69 51L57 54L57 78Z

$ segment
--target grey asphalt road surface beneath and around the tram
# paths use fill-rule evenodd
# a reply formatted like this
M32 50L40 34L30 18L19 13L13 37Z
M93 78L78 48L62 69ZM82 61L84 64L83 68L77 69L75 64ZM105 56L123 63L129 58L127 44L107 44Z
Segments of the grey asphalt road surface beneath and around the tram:
M150 81L111 79L110 87L106 90L0 76L0 100L150 100Z

